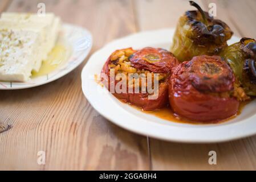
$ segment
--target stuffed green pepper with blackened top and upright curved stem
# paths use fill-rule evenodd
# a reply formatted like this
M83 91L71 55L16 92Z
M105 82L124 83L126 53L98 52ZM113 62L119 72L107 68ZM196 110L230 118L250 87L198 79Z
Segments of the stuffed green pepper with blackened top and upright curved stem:
M200 7L197 5L197 8ZM218 55L232 35L226 23L209 16L201 8L186 11L178 20L170 52L181 62L198 55Z

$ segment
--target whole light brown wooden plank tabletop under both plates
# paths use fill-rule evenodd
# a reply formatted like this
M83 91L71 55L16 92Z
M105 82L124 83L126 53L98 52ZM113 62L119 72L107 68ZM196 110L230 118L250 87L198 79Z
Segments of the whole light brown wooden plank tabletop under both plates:
M91 53L137 31L175 27L191 9L188 1L159 0L1 0L0 11L36 12L39 2L63 22L88 28ZM238 36L256 38L256 1L197 1L217 4L217 16ZM193 8L192 8L193 9ZM79 68L37 88L0 91L0 169L256 169L256 137L214 144L164 142L121 129L101 117L83 96ZM256 121L255 121L256 122ZM209 151L217 165L209 165ZM39 165L38 151L46 151Z

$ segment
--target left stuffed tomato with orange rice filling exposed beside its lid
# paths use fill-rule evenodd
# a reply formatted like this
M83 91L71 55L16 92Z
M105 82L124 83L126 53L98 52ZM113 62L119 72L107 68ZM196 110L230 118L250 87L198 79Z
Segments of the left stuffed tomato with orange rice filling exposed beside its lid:
M168 104L168 78L177 64L172 53L161 48L147 47L139 51L126 48L113 52L101 73L107 75L103 78L104 85L115 97L143 110L155 110ZM117 76L119 73L121 76ZM157 94L152 93L156 81ZM148 89L149 84L153 89ZM156 97L149 97L153 94Z

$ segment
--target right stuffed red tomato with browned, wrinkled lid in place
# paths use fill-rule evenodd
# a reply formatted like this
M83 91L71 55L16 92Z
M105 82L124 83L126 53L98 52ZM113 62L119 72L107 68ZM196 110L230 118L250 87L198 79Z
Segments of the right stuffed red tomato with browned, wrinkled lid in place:
M235 77L220 56L196 56L173 69L169 102L174 113L192 121L220 121L237 114L243 97Z

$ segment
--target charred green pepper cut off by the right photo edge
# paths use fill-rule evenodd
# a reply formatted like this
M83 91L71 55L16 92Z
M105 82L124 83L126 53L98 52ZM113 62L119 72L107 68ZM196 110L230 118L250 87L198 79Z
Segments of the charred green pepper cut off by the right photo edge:
M224 48L220 56L233 69L238 84L248 96L256 96L256 41L242 38Z

